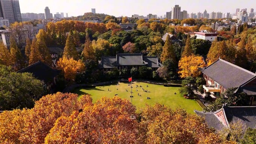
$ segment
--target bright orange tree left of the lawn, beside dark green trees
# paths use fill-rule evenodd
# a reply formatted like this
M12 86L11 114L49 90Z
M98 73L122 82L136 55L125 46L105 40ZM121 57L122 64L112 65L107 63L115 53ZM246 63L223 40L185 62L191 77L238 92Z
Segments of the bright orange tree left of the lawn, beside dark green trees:
M74 80L77 73L83 72L85 68L85 64L79 59L78 61L73 58L60 58L57 63L58 67L63 70L65 79Z

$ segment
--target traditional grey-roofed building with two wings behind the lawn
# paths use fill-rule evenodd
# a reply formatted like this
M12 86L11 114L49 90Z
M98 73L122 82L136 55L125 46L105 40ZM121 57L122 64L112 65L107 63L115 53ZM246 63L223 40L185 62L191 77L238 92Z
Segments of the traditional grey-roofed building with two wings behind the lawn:
M104 74L113 71L115 67L120 71L124 68L131 70L133 67L140 68L142 66L157 70L162 66L157 56L143 56L142 53L117 53L116 56L102 57L99 65Z

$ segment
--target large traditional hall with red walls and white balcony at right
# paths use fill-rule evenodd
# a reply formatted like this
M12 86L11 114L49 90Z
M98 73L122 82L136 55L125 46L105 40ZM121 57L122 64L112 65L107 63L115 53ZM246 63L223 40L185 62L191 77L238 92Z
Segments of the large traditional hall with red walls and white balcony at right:
M250 105L256 105L256 74L230 62L218 59L205 68L199 68L206 80L205 92L219 96L229 88L250 96Z

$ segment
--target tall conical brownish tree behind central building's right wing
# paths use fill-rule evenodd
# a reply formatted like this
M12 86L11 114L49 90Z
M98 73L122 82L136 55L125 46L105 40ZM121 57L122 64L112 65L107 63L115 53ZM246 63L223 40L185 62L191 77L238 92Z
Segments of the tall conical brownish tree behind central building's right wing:
M161 62L165 61L166 59L173 59L176 62L176 55L173 48L173 43L169 34L166 37L165 44L163 46L163 52L161 54Z

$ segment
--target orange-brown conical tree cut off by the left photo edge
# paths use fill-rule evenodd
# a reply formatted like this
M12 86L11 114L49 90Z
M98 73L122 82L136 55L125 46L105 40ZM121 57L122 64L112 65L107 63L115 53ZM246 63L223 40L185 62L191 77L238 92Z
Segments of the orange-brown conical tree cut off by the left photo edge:
M12 65L12 57L10 51L7 49L3 42L0 42L0 64L6 66Z

